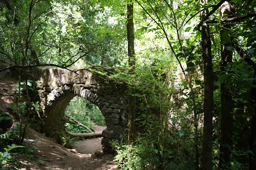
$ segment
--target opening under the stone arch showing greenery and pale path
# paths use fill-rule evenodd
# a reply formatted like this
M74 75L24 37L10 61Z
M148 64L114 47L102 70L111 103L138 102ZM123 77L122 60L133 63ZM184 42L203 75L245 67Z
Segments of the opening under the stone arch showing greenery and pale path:
M88 133L86 128L81 127L73 120L82 123L92 131L102 131L106 129L105 118L100 109L85 99L84 97L75 96L70 100L70 103L65 109L65 115L73 118L65 123L65 129L72 133ZM93 154L96 151L102 150L102 136L93 138L83 138L69 136L69 144L67 146L76 149L80 154Z

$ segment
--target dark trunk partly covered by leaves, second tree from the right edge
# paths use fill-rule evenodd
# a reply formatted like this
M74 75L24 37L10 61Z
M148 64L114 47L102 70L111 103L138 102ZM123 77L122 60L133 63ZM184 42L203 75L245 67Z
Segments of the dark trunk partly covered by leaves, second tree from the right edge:
M231 4L228 4L227 10L224 14L230 14ZM231 27L230 23L223 25L223 29L220 32L221 41L223 41L222 34L229 32ZM229 63L232 62L232 51L227 50L225 47L232 46L230 42L224 42L221 45L221 70L225 71ZM220 158L219 168L228 168L230 166L230 146L232 144L232 132L233 132L233 101L232 101L232 89L226 88L225 82L220 84L220 103L221 103L221 138L220 138Z

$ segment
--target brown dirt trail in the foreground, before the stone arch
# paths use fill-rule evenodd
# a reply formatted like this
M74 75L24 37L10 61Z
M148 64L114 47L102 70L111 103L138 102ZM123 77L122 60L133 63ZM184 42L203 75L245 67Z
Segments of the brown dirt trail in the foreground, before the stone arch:
M44 136L43 134L36 132L32 128L28 128L27 135L30 137L28 141L36 140L38 138L43 138L44 140L39 140L38 142L32 144L34 147L40 150L34 151L34 159L28 159L26 154L16 155L16 158L20 160L23 168L29 170L111 170L117 169L113 160L113 155L103 155L102 158L94 159L91 154L81 154L75 150L66 149L60 144L56 144L51 138ZM94 139L94 138L92 138ZM98 138L97 140L101 140ZM90 139L86 140L90 143ZM95 139L92 140L95 142ZM83 141L80 141L83 142ZM87 145L82 145L87 146ZM86 147L90 148L90 146ZM83 148L79 148L82 149ZM99 149L99 148L98 148ZM84 148L86 151L86 149ZM88 150L86 151L88 152Z

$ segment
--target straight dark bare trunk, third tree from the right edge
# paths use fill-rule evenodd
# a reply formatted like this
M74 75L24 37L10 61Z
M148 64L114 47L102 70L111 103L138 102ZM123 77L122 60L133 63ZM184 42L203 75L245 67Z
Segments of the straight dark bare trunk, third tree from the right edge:
M213 69L209 26L202 26L202 57L204 63L204 133L202 169L212 169Z

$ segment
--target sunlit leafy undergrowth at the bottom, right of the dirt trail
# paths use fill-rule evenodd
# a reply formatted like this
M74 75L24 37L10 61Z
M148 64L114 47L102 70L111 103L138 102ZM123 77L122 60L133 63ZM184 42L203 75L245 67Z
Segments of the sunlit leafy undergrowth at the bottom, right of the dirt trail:
M189 169L193 165L188 150L184 147L184 135L163 129L162 122L142 115L140 133L131 145L126 140L113 140L112 147L116 150L115 160L122 169L130 170L180 170Z

